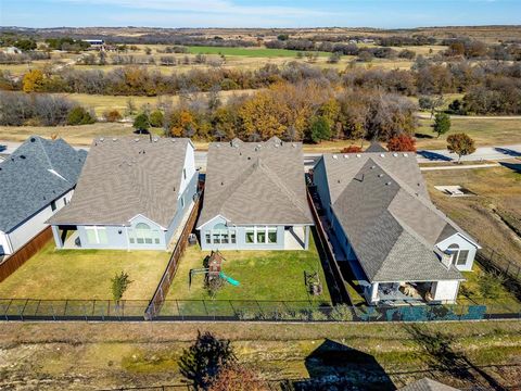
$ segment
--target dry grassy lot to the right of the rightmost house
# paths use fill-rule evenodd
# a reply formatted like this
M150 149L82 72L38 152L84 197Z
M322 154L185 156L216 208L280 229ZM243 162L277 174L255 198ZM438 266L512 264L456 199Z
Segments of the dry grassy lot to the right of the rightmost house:
M512 162L518 164L519 161ZM500 214L521 217L521 173L507 167L431 171L423 173L433 202L473 236L521 265L521 238ZM476 195L450 198L434 186L459 185Z

